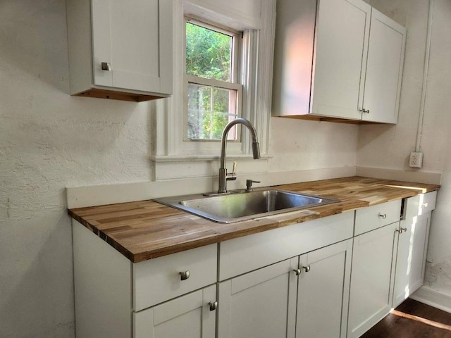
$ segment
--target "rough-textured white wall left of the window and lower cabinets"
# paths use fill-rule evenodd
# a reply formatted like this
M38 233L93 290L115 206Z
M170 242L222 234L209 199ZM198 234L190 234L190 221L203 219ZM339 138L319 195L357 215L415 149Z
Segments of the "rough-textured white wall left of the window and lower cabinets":
M74 337L65 188L149 180L149 107L68 94L64 0L0 1L0 337Z

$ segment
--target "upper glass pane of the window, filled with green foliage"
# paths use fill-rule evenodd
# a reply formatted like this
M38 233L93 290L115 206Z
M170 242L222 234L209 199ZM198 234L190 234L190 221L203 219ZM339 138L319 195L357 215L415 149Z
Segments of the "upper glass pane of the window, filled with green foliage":
M186 73L230 82L233 37L186 23Z

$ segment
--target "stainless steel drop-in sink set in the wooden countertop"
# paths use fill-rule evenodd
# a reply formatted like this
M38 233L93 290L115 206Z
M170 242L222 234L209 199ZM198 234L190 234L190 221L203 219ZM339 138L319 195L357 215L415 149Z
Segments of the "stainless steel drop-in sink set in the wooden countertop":
M217 223L234 223L338 202L280 189L256 189L216 196L174 196L155 201Z

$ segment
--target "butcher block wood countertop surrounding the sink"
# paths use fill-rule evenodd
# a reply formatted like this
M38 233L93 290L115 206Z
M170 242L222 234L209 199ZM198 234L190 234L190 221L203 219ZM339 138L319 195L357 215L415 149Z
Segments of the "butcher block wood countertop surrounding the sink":
M207 244L276 229L395 199L432 192L439 185L345 177L293 183L278 189L338 199L340 202L279 215L220 224L152 200L70 209L69 215L133 263Z

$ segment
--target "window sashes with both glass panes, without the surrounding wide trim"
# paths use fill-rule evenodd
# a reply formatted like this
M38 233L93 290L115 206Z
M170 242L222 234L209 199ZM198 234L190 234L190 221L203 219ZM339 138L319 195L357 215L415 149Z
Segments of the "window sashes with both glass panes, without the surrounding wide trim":
M241 115L237 83L240 32L187 18L185 23L185 141L217 141ZM237 126L228 133L238 140Z

